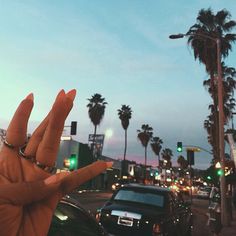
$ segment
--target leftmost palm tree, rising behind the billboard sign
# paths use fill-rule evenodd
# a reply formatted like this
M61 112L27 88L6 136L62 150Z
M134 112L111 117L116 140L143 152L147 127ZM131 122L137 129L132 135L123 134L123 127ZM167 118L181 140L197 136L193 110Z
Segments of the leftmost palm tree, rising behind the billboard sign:
M105 108L107 105L107 102L105 101L105 98L102 97L101 94L95 93L92 95L91 98L88 98L89 103L87 104L88 107L88 115L91 120L91 122L94 125L94 135L93 135L93 142L91 146L91 150L94 153L94 146L95 146L95 138L97 134L97 126L101 123L104 114L105 114Z

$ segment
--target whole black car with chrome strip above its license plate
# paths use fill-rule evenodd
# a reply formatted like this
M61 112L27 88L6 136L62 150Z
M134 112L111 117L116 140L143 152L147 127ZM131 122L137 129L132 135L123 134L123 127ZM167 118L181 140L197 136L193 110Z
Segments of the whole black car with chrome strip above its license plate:
M97 214L111 235L191 235L192 213L168 188L128 184L117 190Z

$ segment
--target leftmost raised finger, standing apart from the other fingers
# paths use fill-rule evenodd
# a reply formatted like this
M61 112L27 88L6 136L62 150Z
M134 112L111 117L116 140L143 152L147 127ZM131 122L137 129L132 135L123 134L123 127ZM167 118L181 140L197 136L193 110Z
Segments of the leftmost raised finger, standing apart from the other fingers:
M33 94L29 94L18 106L7 129L6 140L15 147L25 144L27 140L27 124L33 108Z

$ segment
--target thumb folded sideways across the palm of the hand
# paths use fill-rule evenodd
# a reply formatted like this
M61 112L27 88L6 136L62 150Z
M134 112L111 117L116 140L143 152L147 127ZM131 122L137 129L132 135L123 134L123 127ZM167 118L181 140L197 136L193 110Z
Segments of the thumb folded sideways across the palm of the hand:
M0 204L27 205L40 201L58 191L59 183L44 181L21 182L0 185Z

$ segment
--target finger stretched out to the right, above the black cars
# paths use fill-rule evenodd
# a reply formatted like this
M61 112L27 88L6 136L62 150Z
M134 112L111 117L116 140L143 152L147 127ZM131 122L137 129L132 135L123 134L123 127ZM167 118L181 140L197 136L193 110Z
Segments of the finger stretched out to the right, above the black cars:
M101 174L107 168L112 167L112 164L113 162L96 161L91 165L73 171L69 174L68 172L62 172L55 176L49 177L47 181L50 184L57 183L58 181L60 181L60 189L63 196L67 193L70 193L71 191L79 187L81 184Z

